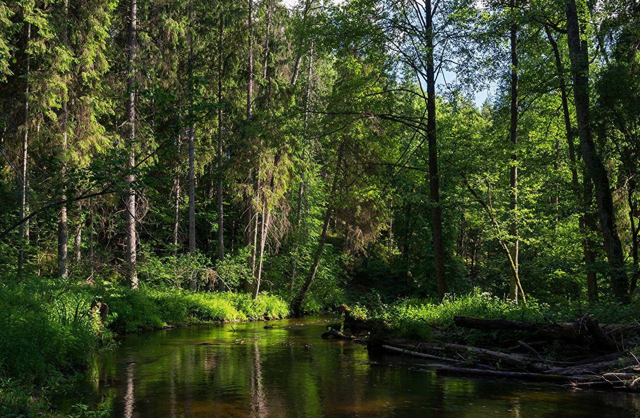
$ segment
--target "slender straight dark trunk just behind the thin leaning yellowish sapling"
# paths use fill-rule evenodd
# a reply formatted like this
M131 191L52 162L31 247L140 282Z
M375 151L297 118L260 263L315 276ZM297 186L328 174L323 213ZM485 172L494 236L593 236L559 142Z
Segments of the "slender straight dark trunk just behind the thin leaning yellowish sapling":
M509 4L513 11L516 7L515 0L511 0ZM518 231L518 154L516 147L518 146L518 25L513 22L510 28L510 44L511 44L511 125L509 127L509 138L513 147L511 154L511 231L513 236L513 245L509 248L511 259L515 264L515 270L511 271L511 280L509 281L509 299L518 301L518 281L520 267L518 266L518 256L520 252L520 234Z

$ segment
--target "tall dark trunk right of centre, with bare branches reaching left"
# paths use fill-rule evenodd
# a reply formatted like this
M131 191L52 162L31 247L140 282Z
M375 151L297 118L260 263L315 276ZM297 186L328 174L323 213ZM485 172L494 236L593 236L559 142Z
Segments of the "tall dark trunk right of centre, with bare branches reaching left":
M442 207L440 207L440 178L438 177L438 143L436 141L436 82L433 65L433 15L431 0L425 1L424 12L427 49L427 140L429 144L429 200L431 200L431 232L438 298L442 300L449 291L444 266L442 242Z

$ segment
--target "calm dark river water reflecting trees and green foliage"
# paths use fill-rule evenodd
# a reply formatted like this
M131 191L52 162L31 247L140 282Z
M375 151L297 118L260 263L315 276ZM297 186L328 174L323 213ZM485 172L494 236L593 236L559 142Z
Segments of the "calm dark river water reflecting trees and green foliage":
M127 418L640 417L636 394L436 376L420 359L324 341L320 334L335 321L307 317L125 335L60 404L108 403L113 416Z

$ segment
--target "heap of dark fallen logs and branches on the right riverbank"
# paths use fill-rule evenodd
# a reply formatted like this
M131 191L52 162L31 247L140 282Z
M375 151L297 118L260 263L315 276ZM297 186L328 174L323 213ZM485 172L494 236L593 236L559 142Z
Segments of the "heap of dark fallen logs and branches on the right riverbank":
M625 343L628 345L630 339L636 338L637 344L640 323L633 321L621 324L620 320L627 319L625 317L600 324L589 315L567 323L456 316L454 328L458 332L470 329L509 332L509 338L497 346L476 347L390 337L371 323L356 323L355 319L349 318L349 310L344 309L344 312L345 326L349 328L353 324L353 334L367 328L371 330L367 340L369 350L429 360L435 363L433 366L438 374L514 378L576 387L640 387L640 361L625 348ZM448 331L453 330L450 328ZM339 334L331 337L354 339ZM551 342L555 342L553 352L549 350Z

